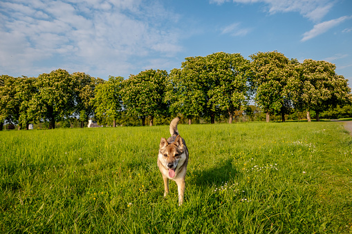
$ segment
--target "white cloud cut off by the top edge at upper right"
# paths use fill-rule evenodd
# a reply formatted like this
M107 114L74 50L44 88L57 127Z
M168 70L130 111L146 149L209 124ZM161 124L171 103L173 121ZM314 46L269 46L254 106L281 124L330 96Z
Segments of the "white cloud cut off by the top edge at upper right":
M221 5L230 0L210 0L210 3ZM299 12L311 21L319 21L333 7L332 0L232 0L234 3L266 3L268 12Z

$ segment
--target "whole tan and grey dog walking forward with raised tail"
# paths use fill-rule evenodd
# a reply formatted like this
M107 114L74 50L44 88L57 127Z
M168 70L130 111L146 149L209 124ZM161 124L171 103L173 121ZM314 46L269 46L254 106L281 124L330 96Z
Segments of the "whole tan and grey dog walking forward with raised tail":
M185 196L188 149L185 140L178 134L178 121L180 118L176 117L170 123L171 137L168 139L162 137L160 140L158 167L164 179L164 197L169 193L169 179L174 180L178 188L178 206L180 206Z

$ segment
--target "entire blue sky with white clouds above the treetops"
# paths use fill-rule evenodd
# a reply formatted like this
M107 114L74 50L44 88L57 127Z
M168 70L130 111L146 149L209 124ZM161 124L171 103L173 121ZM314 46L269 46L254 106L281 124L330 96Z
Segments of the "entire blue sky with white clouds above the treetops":
M109 75L185 57L277 50L325 60L352 83L351 0L1 0L0 75Z

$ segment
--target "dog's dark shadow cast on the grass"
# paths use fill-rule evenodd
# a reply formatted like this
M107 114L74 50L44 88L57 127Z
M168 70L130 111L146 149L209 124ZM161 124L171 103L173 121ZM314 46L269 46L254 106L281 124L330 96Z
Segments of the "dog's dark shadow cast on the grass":
M237 179L242 173L232 164L234 159L227 159L215 166L205 170L195 170L192 172L192 182L196 186L209 186L212 184L221 184L233 179Z

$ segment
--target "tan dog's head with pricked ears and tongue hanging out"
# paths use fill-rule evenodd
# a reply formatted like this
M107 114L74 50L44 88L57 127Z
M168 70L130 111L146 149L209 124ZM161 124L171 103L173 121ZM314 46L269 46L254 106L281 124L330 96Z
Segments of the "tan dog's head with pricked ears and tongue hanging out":
M171 144L167 142L167 139L161 138L158 157L163 166L169 170L169 177L174 177L178 162L185 158L183 139L180 135Z

